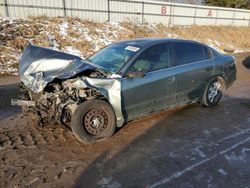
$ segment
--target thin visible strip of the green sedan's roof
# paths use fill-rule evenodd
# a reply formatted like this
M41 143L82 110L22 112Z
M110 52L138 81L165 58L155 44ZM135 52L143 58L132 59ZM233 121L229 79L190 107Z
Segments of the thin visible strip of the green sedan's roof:
M185 39L173 39L173 38L140 38L140 39L133 39L133 40L125 40L120 41L115 44L123 44L128 46L137 46L137 47L147 47L153 44L161 43L161 42L192 42L192 43L199 43L193 40L185 40ZM202 44L202 43L199 43Z

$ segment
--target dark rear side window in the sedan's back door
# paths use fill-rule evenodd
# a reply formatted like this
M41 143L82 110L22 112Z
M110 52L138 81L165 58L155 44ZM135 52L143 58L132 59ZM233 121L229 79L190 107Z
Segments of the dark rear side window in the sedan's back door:
M174 43L174 49L176 66L207 59L204 47L196 43L176 42Z

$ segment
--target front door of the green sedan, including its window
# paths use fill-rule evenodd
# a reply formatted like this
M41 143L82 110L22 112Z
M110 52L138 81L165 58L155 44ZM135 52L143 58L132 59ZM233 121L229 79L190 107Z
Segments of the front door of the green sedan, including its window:
M171 46L161 43L147 48L128 68L144 72L143 77L122 80L122 106L127 120L149 114L173 104L176 89L171 71Z

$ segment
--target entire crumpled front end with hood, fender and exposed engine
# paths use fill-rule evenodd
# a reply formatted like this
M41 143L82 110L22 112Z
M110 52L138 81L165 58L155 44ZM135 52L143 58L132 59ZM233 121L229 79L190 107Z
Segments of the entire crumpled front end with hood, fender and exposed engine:
M37 115L39 124L70 125L77 105L101 99L113 107L117 126L123 125L119 75L107 75L77 56L29 46L23 53L19 75L22 100L12 101Z

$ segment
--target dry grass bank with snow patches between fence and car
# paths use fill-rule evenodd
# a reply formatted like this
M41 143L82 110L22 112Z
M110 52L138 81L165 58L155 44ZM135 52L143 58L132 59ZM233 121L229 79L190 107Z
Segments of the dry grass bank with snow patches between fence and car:
M60 31L63 23L68 25L66 36ZM43 47L56 45L59 50L72 46L86 57L110 42L148 37L194 39L212 43L221 49L250 50L249 36L249 27L197 25L167 27L163 24L139 25L130 20L112 24L71 17L39 16L25 20L8 20L0 17L0 75L6 74L6 71L1 72L1 69L17 67L18 58L29 43Z

